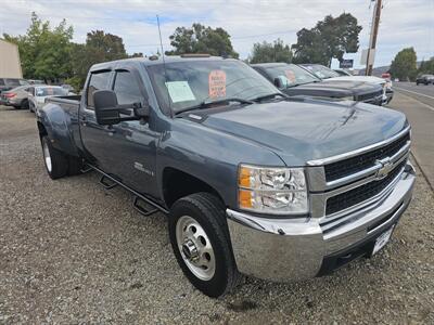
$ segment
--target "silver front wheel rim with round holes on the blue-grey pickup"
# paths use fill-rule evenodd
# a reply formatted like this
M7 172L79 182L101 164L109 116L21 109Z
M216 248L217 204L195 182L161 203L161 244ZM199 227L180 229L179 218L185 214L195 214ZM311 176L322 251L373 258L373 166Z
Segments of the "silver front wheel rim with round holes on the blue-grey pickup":
M189 270L200 280L209 281L216 272L213 246L202 225L189 216L178 219L176 239Z

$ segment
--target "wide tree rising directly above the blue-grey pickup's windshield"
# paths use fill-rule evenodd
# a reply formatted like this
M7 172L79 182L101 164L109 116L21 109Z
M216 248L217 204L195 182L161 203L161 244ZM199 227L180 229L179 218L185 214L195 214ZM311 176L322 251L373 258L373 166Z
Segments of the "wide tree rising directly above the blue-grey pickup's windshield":
M233 51L230 35L220 27L213 29L201 24L193 24L191 28L177 27L169 39L175 50L166 51L167 55L208 53L218 56L239 56Z

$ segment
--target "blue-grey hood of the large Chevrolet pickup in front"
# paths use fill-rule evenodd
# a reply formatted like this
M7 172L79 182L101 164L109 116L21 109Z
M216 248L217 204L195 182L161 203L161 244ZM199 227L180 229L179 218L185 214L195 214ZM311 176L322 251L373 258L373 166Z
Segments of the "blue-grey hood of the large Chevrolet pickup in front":
M206 110L204 126L266 146L288 166L368 146L407 126L404 114L362 103L294 100Z

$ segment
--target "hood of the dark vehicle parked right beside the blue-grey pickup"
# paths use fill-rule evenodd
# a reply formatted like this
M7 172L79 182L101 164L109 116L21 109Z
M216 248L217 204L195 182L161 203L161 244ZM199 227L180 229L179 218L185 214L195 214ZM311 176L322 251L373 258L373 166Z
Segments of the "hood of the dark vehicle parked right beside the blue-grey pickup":
M330 98L344 98L361 93L376 92L379 86L355 80L330 80L310 82L283 90L289 95L317 95Z

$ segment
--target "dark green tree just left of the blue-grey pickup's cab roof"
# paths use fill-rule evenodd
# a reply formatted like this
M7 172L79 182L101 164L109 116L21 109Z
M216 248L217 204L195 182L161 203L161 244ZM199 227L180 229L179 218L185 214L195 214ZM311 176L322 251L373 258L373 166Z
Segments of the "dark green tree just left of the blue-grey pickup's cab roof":
M101 62L127 58L123 39L102 30L88 32L85 44L73 44L72 51L73 76L68 82L77 90L85 84L89 68Z

